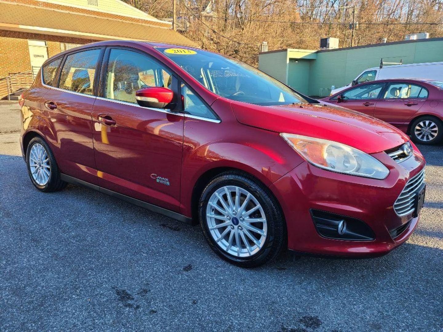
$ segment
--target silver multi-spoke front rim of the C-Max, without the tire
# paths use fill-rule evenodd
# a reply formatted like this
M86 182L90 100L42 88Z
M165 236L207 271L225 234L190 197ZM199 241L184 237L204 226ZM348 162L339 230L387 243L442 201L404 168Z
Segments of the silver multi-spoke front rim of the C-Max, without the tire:
M263 208L251 193L235 185L212 194L206 222L218 246L237 257L256 254L266 241L268 225Z

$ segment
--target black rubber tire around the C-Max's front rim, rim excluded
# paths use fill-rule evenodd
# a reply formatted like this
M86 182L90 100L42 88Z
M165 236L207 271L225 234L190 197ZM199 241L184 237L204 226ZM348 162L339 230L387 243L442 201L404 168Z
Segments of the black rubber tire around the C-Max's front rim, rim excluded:
M209 204L210 197L214 194L214 192L220 188L223 188L224 186L237 186L247 190L253 195L253 197L256 198L258 203L263 208L267 224L266 238L261 249L249 257L237 257L229 254L216 243L215 239L210 233L209 225L206 220L206 208ZM206 241L212 250L214 250L214 252L222 259L225 259L234 265L241 267L260 266L270 260L275 259L287 246L286 224L280 210L280 205L270 190L249 174L240 171L227 171L213 178L203 190L200 197L198 216L203 234L205 235ZM234 218L232 220L234 220ZM240 228L241 225L242 223L240 222L237 226L234 226L234 228ZM226 235L226 237L228 237L228 235ZM244 243L244 240L241 239L240 242L241 241ZM247 239L247 241L249 241L249 239Z

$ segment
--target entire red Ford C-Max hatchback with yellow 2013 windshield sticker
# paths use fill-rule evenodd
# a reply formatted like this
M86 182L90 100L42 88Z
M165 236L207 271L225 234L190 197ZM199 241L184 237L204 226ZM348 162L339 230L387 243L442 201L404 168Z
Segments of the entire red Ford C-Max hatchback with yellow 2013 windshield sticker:
M286 247L383 255L424 201L425 161L404 133L205 50L81 46L47 60L19 102L37 189L70 182L199 220L240 266Z

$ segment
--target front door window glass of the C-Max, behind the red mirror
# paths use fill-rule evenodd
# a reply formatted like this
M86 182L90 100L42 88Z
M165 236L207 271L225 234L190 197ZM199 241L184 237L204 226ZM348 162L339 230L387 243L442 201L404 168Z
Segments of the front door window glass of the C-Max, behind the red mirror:
M171 88L171 73L148 56L112 49L106 71L105 97L137 104L136 91L151 86Z

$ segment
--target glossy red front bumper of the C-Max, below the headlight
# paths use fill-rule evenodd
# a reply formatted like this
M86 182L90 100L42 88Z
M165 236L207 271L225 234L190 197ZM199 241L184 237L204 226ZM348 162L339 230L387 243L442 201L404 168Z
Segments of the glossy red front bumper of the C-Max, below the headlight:
M384 180L360 178L319 169L303 162L270 188L283 208L288 228L288 248L318 255L381 256L404 243L419 217L399 217L393 204L409 178L424 168L424 158L414 156L397 164L384 152L373 154L389 169ZM311 209L362 220L375 234L371 241L327 239L312 220ZM403 226L403 227L402 227ZM392 238L392 230L401 232Z

